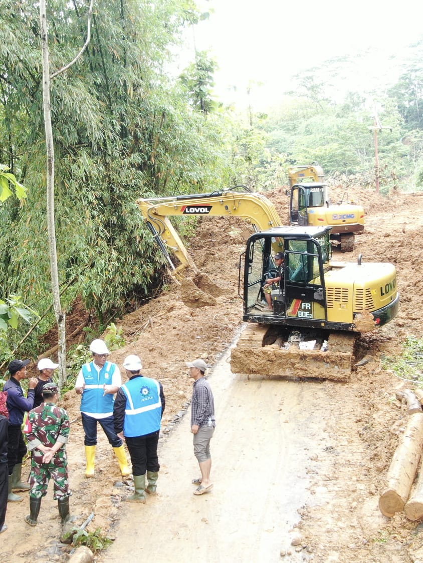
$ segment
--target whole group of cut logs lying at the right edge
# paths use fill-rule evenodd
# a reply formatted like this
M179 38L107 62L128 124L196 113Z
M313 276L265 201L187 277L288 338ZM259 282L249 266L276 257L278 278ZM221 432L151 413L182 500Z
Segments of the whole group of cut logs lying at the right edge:
M411 495L410 493L423 448L423 394L420 400L412 391L404 390L396 393L396 399L407 404L409 418L386 475L386 486L379 498L379 509L388 517L404 510L409 520L420 520L423 517L423 468Z

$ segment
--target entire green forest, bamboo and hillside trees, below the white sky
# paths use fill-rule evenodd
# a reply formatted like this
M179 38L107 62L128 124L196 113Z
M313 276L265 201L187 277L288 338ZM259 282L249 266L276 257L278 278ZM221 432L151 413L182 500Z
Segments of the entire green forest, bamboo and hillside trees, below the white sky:
M85 41L88 5L56 0L47 9L54 74ZM382 192L423 185L423 71L418 62L423 43L410 51L400 81L389 90L350 92L335 101L330 84L315 69L293 79L292 91L281 96L278 108L239 111L213 97L215 62L208 53L193 52L192 64L180 77L169 70L184 30L195 30L208 16L183 0L99 0L86 51L52 78L62 298L70 309L82 296L100 329L113 315L136 309L162 283L162 257L140 221L139 197L235 184L266 191L286 183L288 166L312 161L340 184L347 185L354 175L356 185L372 190L373 100L381 125L389 126L379 135ZM339 61L335 66L338 72ZM10 197L0 207L0 297L18 296L43 315L19 347L21 354L32 356L39 353L41 334L54 324L41 82L38 5L5 0L0 14L0 163L27 187L28 197L24 202ZM193 226L186 222L182 229L190 235ZM25 323L8 329L1 339L2 361L27 329Z

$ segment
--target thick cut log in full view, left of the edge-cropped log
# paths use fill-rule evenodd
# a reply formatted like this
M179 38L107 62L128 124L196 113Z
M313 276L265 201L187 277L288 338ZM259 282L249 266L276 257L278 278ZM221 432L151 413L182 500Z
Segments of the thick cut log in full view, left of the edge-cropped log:
M386 475L386 487L379 498L379 510L384 516L391 517L403 510L416 476L422 446L423 413L415 413L408 418Z

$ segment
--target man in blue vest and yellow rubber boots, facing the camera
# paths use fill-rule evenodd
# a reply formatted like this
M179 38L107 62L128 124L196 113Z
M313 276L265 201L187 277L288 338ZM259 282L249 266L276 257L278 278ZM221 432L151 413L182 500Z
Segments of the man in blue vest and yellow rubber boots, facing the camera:
M90 344L92 361L82 366L75 383L75 391L81 398L82 426L85 432L86 477L94 477L97 423L109 440L122 473L130 475L124 443L116 435L113 422L114 394L122 385L121 372L116 364L107 361L110 354L105 342L96 338Z

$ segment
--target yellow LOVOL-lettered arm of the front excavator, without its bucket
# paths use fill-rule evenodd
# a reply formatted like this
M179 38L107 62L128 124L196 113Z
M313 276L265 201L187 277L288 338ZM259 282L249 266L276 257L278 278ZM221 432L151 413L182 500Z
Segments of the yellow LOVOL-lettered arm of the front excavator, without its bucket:
M175 277L183 277L187 268L198 272L169 216L241 217L258 231L281 225L276 208L264 195L216 190L205 194L179 195L136 201L148 229L160 247ZM175 266L174 254L179 266Z

